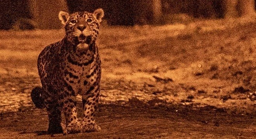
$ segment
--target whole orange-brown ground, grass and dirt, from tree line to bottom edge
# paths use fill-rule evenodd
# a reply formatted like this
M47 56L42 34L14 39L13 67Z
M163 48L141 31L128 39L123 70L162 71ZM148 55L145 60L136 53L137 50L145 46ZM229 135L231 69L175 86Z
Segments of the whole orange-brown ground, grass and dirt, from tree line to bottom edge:
M253 139L255 21L102 27L102 131L66 138ZM63 36L63 29L0 31L0 138L51 137L30 92L40 86L38 54Z

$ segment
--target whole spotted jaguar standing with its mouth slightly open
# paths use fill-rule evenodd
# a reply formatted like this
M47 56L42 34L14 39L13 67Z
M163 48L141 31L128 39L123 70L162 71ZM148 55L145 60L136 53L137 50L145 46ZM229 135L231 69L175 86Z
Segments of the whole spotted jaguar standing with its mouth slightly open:
M48 132L72 134L99 131L94 114L100 97L100 57L95 43L104 12L59 13L66 36L45 47L38 57L42 88L32 90L39 108L46 108ZM82 96L83 120L78 121L76 95Z

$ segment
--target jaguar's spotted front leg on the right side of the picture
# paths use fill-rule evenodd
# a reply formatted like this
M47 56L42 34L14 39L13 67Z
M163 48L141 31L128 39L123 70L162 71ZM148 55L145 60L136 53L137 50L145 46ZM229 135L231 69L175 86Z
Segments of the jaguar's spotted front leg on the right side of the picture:
M99 125L95 124L95 111L98 107L100 96L100 88L99 86L95 86L94 90L87 95L82 96L83 101L83 121L82 132L92 132L92 131L100 131L101 128Z

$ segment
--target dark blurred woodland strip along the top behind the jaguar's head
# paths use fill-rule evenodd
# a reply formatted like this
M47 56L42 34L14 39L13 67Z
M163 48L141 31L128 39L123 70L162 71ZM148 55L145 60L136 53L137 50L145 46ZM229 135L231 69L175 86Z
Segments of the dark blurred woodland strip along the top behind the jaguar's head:
M239 17L243 10L240 5L245 5L244 3L251 0L234 1L237 1L237 4L233 6L232 10L235 12L235 16ZM104 19L107 20L108 25L164 23L162 20L154 19L154 12L159 12L154 10L154 6L152 6L154 2L161 4L161 17L186 14L195 19L224 18L228 10L227 5L232 5L230 4L232 0L40 0L40 2L36 0L1 0L0 29L12 29L16 23L18 23L18 28L22 28L20 24L26 24L23 26L24 29L57 29L61 27L57 18L60 10L66 10L69 13L93 12L97 8L104 9ZM31 3L36 3L36 8L31 7ZM248 6L246 5L246 7ZM44 22L43 25L40 24L42 22Z

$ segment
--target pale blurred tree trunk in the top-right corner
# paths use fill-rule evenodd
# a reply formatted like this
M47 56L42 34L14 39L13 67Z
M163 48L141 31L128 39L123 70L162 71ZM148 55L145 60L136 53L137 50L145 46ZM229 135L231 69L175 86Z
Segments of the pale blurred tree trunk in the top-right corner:
M254 0L239 0L239 9L241 16L251 16L255 14Z

